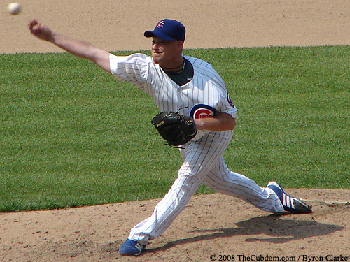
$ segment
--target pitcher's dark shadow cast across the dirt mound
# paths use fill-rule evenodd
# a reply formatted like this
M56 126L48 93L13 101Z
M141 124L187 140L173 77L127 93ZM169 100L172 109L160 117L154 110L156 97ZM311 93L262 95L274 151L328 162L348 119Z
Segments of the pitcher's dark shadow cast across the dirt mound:
M193 238L184 238L169 242L161 247L146 249L147 252L157 252L167 250L176 245L193 243L203 240L213 240L215 238L230 238L237 235L252 235L255 237L246 238L248 242L261 241L272 243L284 243L292 240L300 240L314 236L327 235L335 231L340 231L344 227L332 224L322 224L317 221L301 221L291 219L281 219L281 216L271 214L266 217L253 217L246 221L240 221L236 227L216 228L207 230L197 230L193 232L204 233ZM261 238L256 238L261 235Z

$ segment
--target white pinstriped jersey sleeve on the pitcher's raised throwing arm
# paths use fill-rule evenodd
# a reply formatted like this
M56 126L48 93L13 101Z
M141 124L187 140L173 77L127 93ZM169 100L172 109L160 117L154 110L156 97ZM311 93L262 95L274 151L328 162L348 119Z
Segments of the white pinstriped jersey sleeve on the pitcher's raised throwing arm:
M146 85L149 63L150 60L146 54L109 55L112 75L120 82L127 81L141 88Z

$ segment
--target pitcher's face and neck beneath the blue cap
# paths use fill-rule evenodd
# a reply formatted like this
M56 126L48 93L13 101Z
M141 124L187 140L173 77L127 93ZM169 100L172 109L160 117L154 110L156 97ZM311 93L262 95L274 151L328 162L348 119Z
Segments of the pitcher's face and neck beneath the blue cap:
M179 66L179 60L182 61L182 50L183 41L165 41L153 36L152 57L155 64L164 68Z

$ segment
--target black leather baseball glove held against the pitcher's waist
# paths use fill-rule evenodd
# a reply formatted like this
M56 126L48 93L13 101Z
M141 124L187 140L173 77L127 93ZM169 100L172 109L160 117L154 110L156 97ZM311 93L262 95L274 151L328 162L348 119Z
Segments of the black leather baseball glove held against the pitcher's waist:
M195 121L179 112L165 111L153 117L151 124L170 146L184 145L197 134Z

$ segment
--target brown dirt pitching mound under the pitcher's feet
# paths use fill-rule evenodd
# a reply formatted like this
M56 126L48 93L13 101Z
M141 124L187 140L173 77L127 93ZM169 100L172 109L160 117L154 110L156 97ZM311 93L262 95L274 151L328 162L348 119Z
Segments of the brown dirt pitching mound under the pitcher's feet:
M118 254L158 199L0 214L1 261L244 261L243 256L348 256L349 190L288 189L312 214L268 214L221 194L193 196L164 235L137 258ZM329 258L329 257L328 257ZM232 258L231 258L232 259ZM224 261L224 260L222 260Z

